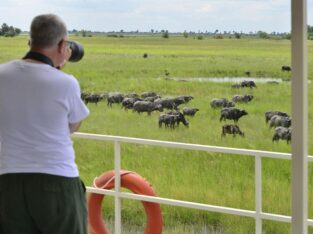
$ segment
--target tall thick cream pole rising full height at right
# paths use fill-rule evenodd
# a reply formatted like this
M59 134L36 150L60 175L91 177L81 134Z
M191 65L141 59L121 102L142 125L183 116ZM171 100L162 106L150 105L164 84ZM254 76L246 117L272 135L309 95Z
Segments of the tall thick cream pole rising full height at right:
M308 233L307 1L292 0L292 233Z

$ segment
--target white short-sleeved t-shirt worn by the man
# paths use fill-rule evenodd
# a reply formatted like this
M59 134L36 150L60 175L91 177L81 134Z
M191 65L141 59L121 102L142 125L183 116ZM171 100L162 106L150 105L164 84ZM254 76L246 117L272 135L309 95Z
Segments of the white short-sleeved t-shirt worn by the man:
M0 65L0 174L77 177L69 123L89 114L77 80L47 64Z

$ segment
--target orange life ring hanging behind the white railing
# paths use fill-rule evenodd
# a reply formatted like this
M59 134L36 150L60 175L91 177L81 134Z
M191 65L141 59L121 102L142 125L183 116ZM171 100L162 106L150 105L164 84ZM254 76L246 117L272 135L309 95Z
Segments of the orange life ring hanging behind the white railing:
M95 178L94 187L112 189L114 187L114 171L108 171ZM121 187L141 195L155 196L150 184L140 175L131 171L121 171ZM101 214L102 194L91 193L88 196L88 223L93 234L109 234ZM162 212L160 204L142 202L147 215L145 234L162 233Z

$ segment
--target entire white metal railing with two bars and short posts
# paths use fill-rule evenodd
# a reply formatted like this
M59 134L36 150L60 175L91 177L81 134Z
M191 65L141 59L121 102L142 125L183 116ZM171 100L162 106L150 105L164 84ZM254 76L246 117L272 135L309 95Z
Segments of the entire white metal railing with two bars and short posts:
M114 170L115 170L115 190L98 189L93 187L87 187L87 192L105 194L115 197L115 233L121 233L121 198L128 198L140 201L156 202L160 204L180 206L185 208L206 210L212 212L219 212L224 214L238 215L244 217L251 217L255 219L255 233L262 233L262 220L280 221L291 223L291 216L278 215L272 213L262 212L262 158L276 158L291 160L291 154L278 153L270 151L260 150L248 150L239 148L228 148L219 146L199 145L199 144L186 144L169 141L149 140L141 138L120 137L110 135L98 135L89 133L75 133L75 138L93 139L93 140L105 140L114 142ZM188 150L198 150L207 152L219 152L225 154L246 155L255 157L255 210L244 210L231 207L214 206L196 202L188 202L182 200L168 199L163 197L153 197L146 195L138 195L127 192L121 192L120 182L120 170L121 170L121 143L133 143L142 145L154 145L161 147L180 148ZM307 157L308 162L313 162L313 157ZM307 224L313 226L313 220L308 219Z

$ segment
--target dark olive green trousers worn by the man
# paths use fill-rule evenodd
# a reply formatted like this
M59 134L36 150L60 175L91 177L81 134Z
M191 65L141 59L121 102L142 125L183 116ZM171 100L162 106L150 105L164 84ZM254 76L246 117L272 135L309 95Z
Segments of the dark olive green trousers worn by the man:
M0 234L86 234L85 191L78 177L0 175Z

